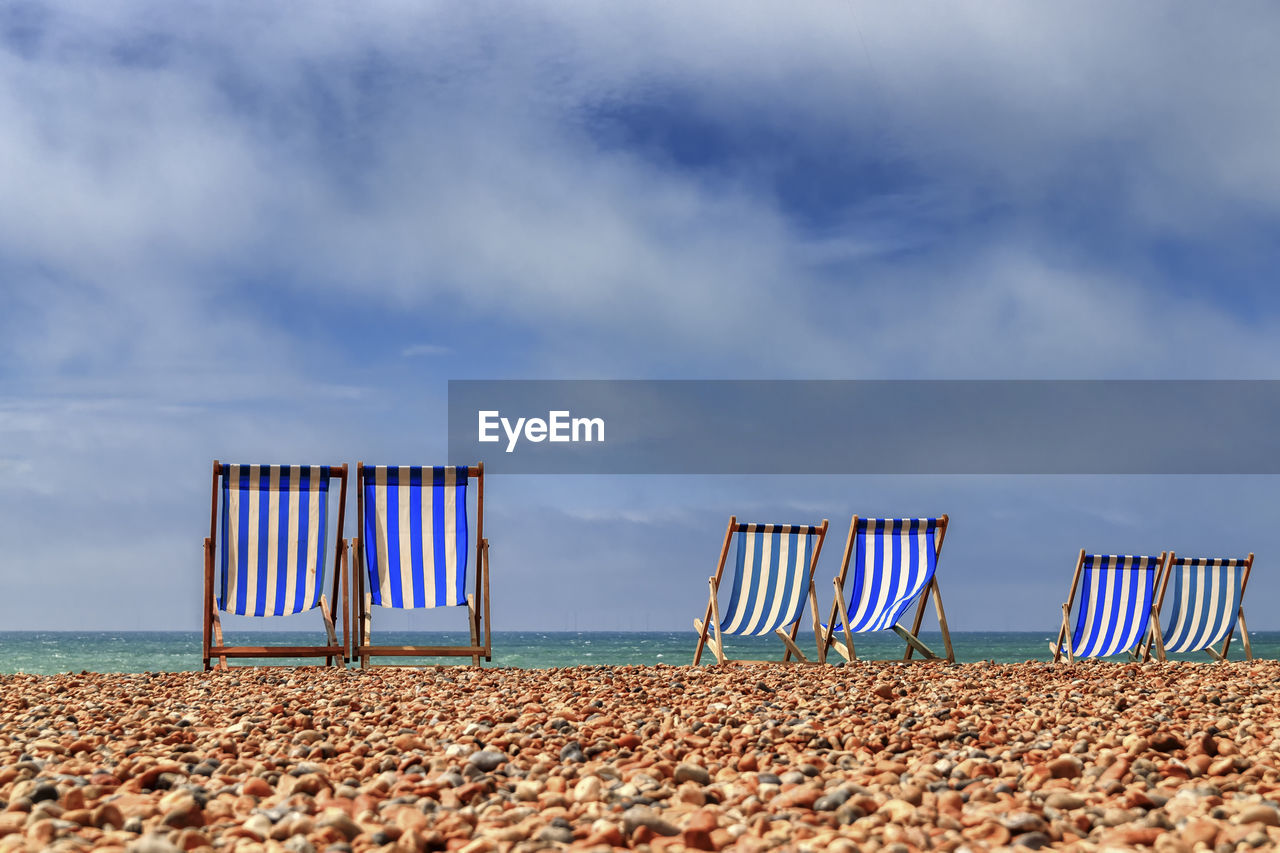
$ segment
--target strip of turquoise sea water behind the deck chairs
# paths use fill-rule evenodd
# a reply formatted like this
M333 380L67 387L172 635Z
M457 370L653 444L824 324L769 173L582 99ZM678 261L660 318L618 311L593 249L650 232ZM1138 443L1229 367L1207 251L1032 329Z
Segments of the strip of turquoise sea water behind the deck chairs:
M941 635L924 633L925 644L941 652ZM726 652L740 658L778 658L782 643L773 637L726 638ZM983 633L956 631L951 635L960 662L996 661L1001 663L1048 660L1048 634L1041 631ZM1280 631L1254 631L1249 635L1256 658L1280 658ZM228 642L246 646L311 644L315 634L284 631L242 631L228 634ZM461 634L392 633L379 634L388 644L462 643ZM493 666L547 669L580 665L671 663L692 661L696 634L689 631L495 631ZM902 642L888 631L855 638L858 653L869 660L897 660ZM800 635L800 648L809 654L813 635ZM836 657L832 654L832 657ZM1243 660L1239 637L1231 643L1231 660ZM407 658L404 658L407 660ZM703 654L703 662L713 660ZM838 657L836 657L838 660ZM1124 658L1115 658L1124 660ZM1208 661L1203 653L1178 660ZM280 661L262 661L279 663ZM305 662L305 661L303 661ZM463 663L470 658L435 658L426 662ZM252 663L252 661L241 661ZM0 672L165 672L198 670L198 631L0 631Z

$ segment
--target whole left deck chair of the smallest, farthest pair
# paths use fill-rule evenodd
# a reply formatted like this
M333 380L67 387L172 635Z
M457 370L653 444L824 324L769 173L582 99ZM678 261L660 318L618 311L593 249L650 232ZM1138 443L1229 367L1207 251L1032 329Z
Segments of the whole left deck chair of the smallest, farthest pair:
M1064 652L1071 663L1078 657L1108 657L1120 652L1137 660L1147 633L1157 630L1152 605L1156 575L1164 562L1164 552L1158 557L1143 557L1084 553L1082 549L1071 575L1071 592L1062 605L1057 642L1048 644L1053 662L1062 660ZM1071 629L1071 602L1076 589L1080 605ZM1064 644L1069 634L1070 642Z

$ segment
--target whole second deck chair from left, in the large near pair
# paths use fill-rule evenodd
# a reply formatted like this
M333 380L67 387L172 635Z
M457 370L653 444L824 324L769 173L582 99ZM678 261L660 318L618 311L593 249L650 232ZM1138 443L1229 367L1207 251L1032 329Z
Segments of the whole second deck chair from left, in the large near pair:
M356 551L356 647L352 657L493 660L489 637L489 540L484 538L484 464L475 466L356 466L360 538ZM467 592L467 484L476 483L476 573ZM466 607L470 646L375 646L372 608ZM484 643L480 642L481 626Z

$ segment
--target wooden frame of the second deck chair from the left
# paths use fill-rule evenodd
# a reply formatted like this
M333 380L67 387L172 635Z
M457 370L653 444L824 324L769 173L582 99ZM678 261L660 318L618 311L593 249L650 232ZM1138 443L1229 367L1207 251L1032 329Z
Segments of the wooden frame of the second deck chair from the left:
M480 660L493 661L493 639L489 630L489 540L484 538L484 462L467 466L467 476L476 482L476 569L474 575L475 592L467 594L467 626L471 630L470 646L375 646L371 642L372 594L366 589L365 551L360 537L365 533L365 464L356 464L356 506L358 534L352 539L356 552L356 642L351 651L352 660L358 660L361 669L374 657L470 657L472 666L480 666ZM484 643L481 643L481 634ZM390 665L396 666L396 665ZM407 666L416 666L408 663Z

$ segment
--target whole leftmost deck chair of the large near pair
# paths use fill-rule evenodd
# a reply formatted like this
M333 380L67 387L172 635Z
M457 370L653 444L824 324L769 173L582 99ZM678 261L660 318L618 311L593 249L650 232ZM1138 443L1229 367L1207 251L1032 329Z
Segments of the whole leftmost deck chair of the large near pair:
M338 530L332 598L324 596L329 483L337 479ZM223 465L214 461L209 538L205 539L205 669L229 657L323 657L344 662L348 640L346 465ZM219 526L219 507L221 525ZM215 597L214 580L218 575ZM338 585L342 584L342 607ZM285 616L320 610L323 646L227 646L220 613ZM342 644L334 621L342 613Z

